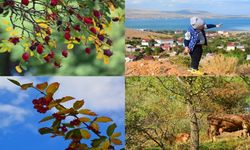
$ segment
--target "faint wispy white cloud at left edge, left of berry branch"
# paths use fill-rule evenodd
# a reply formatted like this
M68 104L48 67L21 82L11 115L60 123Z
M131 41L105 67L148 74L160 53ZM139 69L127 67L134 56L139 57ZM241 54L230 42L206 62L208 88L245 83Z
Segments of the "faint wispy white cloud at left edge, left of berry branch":
M23 108L0 103L0 129L23 122L28 114Z

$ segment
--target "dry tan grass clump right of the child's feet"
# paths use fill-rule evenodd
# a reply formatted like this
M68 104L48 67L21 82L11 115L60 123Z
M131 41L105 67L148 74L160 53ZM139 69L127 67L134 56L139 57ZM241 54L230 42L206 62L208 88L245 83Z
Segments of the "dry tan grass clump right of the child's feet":
M213 55L201 61L201 70L211 75L235 75L237 64L237 58Z

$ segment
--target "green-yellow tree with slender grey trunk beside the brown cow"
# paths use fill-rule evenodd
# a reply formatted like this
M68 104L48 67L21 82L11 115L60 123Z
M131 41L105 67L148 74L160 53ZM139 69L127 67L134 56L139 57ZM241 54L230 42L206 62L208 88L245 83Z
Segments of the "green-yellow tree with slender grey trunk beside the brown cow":
M160 135L165 133L171 141L171 135L190 132L190 149L199 149L200 132L204 133L206 126L202 116L243 113L249 106L249 93L248 85L239 77L127 78L127 145L152 145L145 141L154 141L167 149L169 143ZM147 140L139 136L141 129L148 129L150 137L144 135Z

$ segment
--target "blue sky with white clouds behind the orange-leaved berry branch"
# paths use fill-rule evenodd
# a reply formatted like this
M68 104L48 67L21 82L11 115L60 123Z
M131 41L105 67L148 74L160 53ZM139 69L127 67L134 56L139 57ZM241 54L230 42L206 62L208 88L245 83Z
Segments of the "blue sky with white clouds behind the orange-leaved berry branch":
M123 77L18 77L21 83L44 81L61 84L55 98L73 96L85 99L85 107L99 116L109 116L117 124L117 132L125 141L125 96ZM40 95L34 90L21 91L17 86L0 77L0 146L1 150L63 150L68 143L62 137L40 135L38 129L46 123L38 123L44 117L33 109L31 100ZM66 103L65 106L71 106ZM50 113L53 113L52 110ZM117 148L121 148L119 146Z

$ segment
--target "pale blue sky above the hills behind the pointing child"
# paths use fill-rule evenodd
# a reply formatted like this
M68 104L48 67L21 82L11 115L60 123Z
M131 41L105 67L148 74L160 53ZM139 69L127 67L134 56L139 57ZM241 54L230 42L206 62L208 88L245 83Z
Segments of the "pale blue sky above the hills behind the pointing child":
M249 0L126 0L126 8L163 11L188 9L227 15L250 15Z

